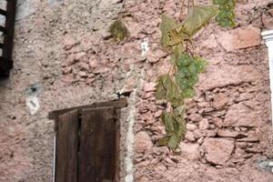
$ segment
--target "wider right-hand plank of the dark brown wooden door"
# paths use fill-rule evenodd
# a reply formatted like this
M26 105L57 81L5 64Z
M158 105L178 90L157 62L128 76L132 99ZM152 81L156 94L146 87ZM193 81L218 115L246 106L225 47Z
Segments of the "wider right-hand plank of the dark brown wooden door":
M77 182L114 182L116 177L114 107L83 110Z

